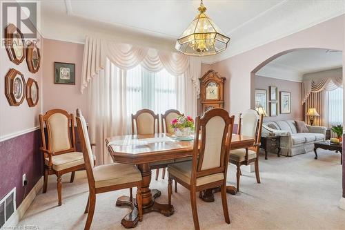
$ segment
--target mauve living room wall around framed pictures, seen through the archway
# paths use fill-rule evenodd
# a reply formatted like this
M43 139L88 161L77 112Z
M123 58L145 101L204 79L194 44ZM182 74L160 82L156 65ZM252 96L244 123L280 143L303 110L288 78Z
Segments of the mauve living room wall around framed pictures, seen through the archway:
M277 121L282 119L294 119L303 120L303 108L301 105L301 82L291 82L281 79L275 79L271 77L255 77L255 88L267 90L268 96L268 86L277 86L278 91L285 91L291 93L291 113L290 114L280 114L277 117L265 117L264 121ZM280 102L280 101L279 101ZM268 105L267 105L267 108ZM266 111L269 115L268 111Z

